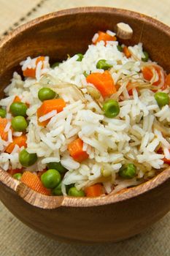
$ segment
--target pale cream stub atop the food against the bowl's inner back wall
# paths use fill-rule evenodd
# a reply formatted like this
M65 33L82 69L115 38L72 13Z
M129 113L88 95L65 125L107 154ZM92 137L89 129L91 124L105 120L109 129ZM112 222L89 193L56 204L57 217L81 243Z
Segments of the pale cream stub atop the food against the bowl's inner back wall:
M116 30L117 30L117 37L121 39L131 39L133 30L128 24L123 22L117 23Z

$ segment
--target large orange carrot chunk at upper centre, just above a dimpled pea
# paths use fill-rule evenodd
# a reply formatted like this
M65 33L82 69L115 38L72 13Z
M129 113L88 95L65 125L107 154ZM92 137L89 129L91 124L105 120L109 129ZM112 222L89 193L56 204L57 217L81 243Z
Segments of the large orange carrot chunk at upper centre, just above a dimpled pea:
M91 73L87 76L86 80L88 83L93 83L103 97L110 96L116 92L114 80L108 70L104 71L104 73Z

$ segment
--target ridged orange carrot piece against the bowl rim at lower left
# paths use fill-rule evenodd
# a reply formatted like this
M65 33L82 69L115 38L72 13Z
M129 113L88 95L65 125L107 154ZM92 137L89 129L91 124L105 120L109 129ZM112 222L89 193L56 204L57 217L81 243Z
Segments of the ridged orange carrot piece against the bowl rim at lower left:
M50 190L43 186L42 181L36 174L26 171L20 178L20 181L26 184L31 189L44 195L50 195Z

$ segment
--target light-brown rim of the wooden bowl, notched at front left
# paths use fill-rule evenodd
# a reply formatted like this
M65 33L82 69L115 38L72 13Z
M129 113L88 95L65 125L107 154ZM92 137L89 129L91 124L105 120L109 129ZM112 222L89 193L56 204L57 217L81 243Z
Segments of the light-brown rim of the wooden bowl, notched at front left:
M10 32L0 41L0 48L3 48L4 45L10 42L11 39L17 37L19 34L22 34L27 29L43 23L47 20L53 20L53 18L59 18L66 15L77 15L80 13L106 13L114 15L124 15L126 17L131 16L134 19L141 20L143 23L150 23L152 26L155 26L157 29L163 30L164 34L167 34L170 38L170 27L164 23L161 23L159 20L155 20L147 15L141 14L139 12L134 12L131 10L123 10L119 8L112 7L77 7L72 9L60 10L58 12L51 12L47 15L43 15L34 20L28 21L23 25L19 26L14 31ZM18 193L20 197L23 198L27 203L30 203L32 206L39 208L53 209L60 206L64 207L90 207L90 206L104 206L111 203L118 203L123 200L128 200L133 197L137 197L150 190L155 189L158 186L161 186L165 181L170 178L170 167L166 170L163 170L154 178L149 181L145 181L143 184L140 184L136 187L124 189L123 191L117 192L117 194L106 195L101 197L69 197L69 196L46 196L35 192L34 190L28 188L25 184L20 183L20 181L15 180L7 172L0 169L0 181L2 184L6 185L8 188L14 190Z

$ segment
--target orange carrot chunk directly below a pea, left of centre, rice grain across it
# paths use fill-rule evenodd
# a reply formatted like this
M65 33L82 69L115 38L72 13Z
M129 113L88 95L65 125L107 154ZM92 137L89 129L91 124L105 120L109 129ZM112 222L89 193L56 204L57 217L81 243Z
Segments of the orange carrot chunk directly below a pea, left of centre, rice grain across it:
M66 102L63 99L48 99L45 100L42 105L37 109L37 117L45 116L47 113L50 113L53 110L57 110L57 113L61 112L63 108L66 106ZM50 121L47 119L46 121L39 122L39 125L45 126Z

